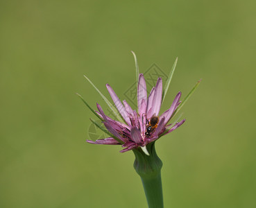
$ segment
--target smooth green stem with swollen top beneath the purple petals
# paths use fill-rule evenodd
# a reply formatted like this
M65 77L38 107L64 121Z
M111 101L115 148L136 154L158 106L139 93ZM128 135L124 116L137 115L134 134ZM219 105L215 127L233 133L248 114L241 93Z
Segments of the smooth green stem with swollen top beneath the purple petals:
M141 148L133 150L134 168L142 179L148 208L163 208L161 168L162 161L155 152L155 142L146 146L149 156Z

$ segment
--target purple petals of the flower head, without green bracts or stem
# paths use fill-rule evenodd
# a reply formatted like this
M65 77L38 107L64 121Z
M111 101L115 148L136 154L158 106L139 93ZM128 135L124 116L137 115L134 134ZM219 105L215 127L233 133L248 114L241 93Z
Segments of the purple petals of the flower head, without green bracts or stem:
M181 92L176 95L171 107L159 115L162 104L162 78L158 78L155 87L151 89L151 93L147 96L144 76L142 73L139 74L137 87L137 112L136 110L133 110L126 101L121 103L110 85L107 84L106 87L112 97L114 105L117 107L117 110L125 123L114 121L106 116L101 105L97 103L99 112L96 113L101 116L105 128L107 128L112 137L98 139L96 141L87 140L90 144L121 145L123 147L123 150L120 151L121 153L140 147L144 150L144 153L148 154L146 150L147 144L159 139L162 135L167 135L173 130L176 130L176 128L185 122L185 119L183 119L174 125L168 125L180 104Z

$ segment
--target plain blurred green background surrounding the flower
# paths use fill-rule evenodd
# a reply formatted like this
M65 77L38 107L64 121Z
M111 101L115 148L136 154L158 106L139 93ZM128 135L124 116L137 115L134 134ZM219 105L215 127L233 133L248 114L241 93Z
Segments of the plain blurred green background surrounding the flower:
M88 139L108 95L157 64L164 101L202 83L157 141L165 207L256 207L255 1L0 1L0 207L146 207L132 152ZM108 96L110 98L110 96Z

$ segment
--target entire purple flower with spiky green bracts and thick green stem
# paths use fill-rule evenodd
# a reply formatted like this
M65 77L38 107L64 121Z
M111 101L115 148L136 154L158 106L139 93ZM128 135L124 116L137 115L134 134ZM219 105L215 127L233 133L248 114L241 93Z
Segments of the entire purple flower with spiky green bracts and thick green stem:
M163 135L167 135L173 130L176 130L176 128L185 122L185 119L180 122L177 122L177 119L177 121L169 124L171 119L176 116L181 107L186 103L187 99L198 87L200 80L182 102L180 101L181 92L178 92L169 109L162 114L159 114L162 102L167 95L167 90L171 83L171 78L178 59L176 59L176 62L173 64L164 90L162 89L162 78L158 78L155 87L153 87L151 92L147 94L146 81L143 74L139 74L137 58L135 53L133 53L133 55L135 57L136 75L138 80L137 111L133 110L126 101L121 102L112 87L107 84L106 87L114 102L114 107L86 76L85 78L91 83L96 91L99 92L117 119L114 120L107 116L103 112L101 105L98 103L96 105L99 111L94 111L82 96L79 94L78 96L82 99L85 105L89 107L89 110L101 119L105 128L103 128L101 124L90 119L92 123L103 130L103 132L110 135L110 137L105 139L97 139L96 141L87 140L87 142L90 144L121 145L123 148L120 151L121 153L133 150L133 153L135 154L134 168L142 179L148 207L162 208L164 207L161 180L162 161L155 151L155 141ZM151 157L146 156L149 155L149 153L151 154Z

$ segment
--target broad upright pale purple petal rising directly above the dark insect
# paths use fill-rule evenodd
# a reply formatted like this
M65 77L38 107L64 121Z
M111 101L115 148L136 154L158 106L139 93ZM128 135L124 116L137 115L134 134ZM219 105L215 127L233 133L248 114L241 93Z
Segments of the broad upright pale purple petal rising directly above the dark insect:
M160 107L162 103L162 78L158 78L157 83L155 85L155 94L152 101L152 112L148 115L148 118L151 118L153 114L156 116L159 114Z

